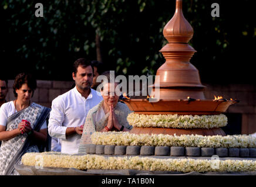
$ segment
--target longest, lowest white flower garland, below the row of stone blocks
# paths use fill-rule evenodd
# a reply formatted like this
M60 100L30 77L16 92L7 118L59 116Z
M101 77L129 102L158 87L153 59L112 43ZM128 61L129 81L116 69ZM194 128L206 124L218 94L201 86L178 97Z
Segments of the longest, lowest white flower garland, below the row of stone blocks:
M99 155L65 155L45 153L26 153L22 164L42 167L76 168L76 169L137 169L147 171L178 172L244 172L256 171L256 161L252 160L220 160L219 167L213 160L196 159L159 159L149 157L103 157Z

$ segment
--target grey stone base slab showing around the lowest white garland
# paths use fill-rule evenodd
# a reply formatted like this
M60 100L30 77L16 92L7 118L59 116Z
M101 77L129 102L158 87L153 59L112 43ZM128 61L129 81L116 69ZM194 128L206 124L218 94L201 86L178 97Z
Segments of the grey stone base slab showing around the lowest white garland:
M83 155L83 154L76 154ZM132 157L127 155L101 155L103 157ZM138 157L149 157L138 155ZM169 159L169 158L191 158L198 160L211 160L211 157L172 157L172 156L156 156L150 158ZM256 161L256 158L240 158L240 157L220 157L220 160L251 160ZM256 175L256 171L249 172L176 172L176 171L143 171L136 169L86 169L79 170L75 168L52 168L52 167L35 167L26 165L15 165L15 169L21 175Z

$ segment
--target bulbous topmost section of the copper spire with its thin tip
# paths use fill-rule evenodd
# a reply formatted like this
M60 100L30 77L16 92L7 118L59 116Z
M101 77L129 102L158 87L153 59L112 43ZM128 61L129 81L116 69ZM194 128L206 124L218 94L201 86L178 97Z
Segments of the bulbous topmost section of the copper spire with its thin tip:
M182 12L182 0L176 0L176 11L173 18L166 24L163 30L164 37L169 43L188 43L193 37L193 28Z

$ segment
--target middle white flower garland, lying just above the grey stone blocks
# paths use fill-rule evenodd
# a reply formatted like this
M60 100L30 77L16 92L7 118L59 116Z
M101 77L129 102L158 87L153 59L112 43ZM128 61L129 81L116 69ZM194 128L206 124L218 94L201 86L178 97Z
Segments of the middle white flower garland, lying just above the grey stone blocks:
M201 136L167 134L133 134L128 132L95 132L93 144L117 146L180 146L180 147L227 147L256 148L256 137L251 135Z

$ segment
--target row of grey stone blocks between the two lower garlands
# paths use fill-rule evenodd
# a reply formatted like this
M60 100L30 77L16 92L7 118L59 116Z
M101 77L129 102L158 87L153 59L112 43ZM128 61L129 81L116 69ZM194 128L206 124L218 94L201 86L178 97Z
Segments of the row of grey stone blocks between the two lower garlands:
M211 148L211 147L168 147L168 146L105 146L87 144L84 153L102 155L156 155L173 157L241 157L256 158L256 148ZM171 158L171 157L168 157Z

